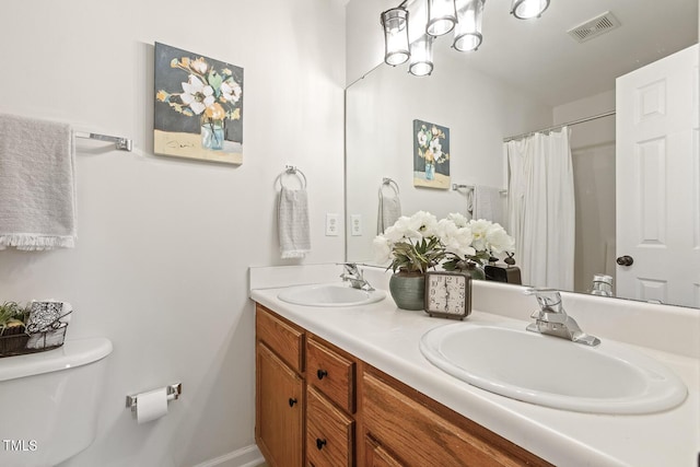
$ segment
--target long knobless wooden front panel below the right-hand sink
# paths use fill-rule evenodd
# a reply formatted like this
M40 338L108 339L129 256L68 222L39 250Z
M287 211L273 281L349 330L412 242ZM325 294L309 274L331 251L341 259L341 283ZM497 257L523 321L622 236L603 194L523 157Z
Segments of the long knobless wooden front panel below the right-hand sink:
M365 430L378 445L401 453L409 466L549 465L494 433L485 434L483 427L458 424L466 420L460 416L443 418L372 374L363 374L362 394Z

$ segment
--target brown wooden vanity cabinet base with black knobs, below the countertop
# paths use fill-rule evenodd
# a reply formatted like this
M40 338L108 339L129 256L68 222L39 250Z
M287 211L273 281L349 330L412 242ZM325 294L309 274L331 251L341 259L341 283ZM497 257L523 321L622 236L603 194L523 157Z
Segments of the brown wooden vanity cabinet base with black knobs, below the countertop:
M257 305L256 441L270 467L549 466Z

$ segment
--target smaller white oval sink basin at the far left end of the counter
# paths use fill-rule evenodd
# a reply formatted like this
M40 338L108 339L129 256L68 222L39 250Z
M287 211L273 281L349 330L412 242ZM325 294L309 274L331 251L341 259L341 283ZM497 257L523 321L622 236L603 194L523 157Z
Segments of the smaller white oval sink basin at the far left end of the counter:
M339 283L290 287L277 295L282 302L306 306L359 306L380 302L385 296L381 290L368 292Z

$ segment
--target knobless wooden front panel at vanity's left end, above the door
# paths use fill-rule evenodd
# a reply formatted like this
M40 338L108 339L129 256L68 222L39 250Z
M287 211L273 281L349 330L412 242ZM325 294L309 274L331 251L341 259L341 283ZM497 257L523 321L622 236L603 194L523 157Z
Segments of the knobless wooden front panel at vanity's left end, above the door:
M284 323L256 304L256 337L275 351L292 370L304 371L304 331Z

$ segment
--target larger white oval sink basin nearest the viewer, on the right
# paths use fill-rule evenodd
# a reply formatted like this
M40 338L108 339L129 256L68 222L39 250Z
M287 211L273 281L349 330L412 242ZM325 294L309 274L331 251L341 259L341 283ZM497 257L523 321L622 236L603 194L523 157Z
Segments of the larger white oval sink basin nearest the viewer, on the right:
M603 340L588 347L521 327L441 326L423 335L420 350L435 366L474 386L558 409L649 413L686 398L678 376L623 345Z

